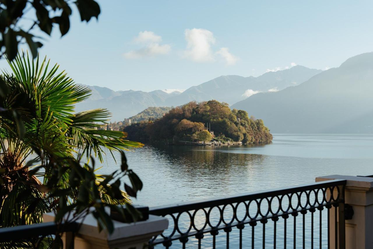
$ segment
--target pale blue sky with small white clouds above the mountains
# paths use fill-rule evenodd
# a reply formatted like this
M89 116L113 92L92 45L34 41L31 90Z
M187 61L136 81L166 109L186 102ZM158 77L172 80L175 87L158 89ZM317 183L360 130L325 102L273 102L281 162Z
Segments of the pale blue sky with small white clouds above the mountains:
M187 89L294 65L326 70L373 50L373 1L98 0L98 21L58 27L40 55L76 83ZM9 68L4 60L0 68Z

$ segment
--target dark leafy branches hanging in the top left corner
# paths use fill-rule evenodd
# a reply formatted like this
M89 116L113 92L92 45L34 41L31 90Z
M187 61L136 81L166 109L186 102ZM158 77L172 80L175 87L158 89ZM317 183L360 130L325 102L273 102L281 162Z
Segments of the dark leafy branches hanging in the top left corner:
M58 24L61 36L70 29L70 15L76 7L81 21L98 19L100 6L94 0L8 0L0 3L0 58L6 54L12 61L18 52L18 44L27 43L35 58L43 46L41 37L35 36L35 28L50 36L53 24ZM27 13L27 17L26 17ZM32 13L32 15L30 15ZM35 13L35 14L34 14ZM31 19L30 19L31 18ZM25 26L28 25L28 28Z

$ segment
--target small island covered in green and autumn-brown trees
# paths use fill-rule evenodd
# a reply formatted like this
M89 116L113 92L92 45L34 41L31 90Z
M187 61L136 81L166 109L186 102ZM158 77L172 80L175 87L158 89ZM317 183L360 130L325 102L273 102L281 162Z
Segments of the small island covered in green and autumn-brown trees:
M263 120L249 117L246 111L231 110L216 100L195 101L172 108L156 120L132 123L124 128L128 139L144 142L228 141L259 144L272 141Z

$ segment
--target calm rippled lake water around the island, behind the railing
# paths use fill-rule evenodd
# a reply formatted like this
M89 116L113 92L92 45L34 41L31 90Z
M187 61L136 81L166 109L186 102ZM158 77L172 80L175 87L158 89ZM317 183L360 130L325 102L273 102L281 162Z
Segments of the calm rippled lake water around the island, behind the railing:
M147 145L126 155L129 167L144 182L144 188L134 202L147 206L312 183L315 177L324 175L373 175L373 135L274 134L273 142L264 145ZM111 157L107 157L100 171L110 173L118 167ZM301 229L301 216L298 217L297 227ZM318 219L315 216L315 220ZM278 222L278 227L283 227L281 222ZM269 223L266 226L269 228L266 247L273 245ZM292 246L292 224L291 217L288 221L288 247ZM261 247L261 224L256 229L256 246ZM247 225L243 231L246 234L244 244L247 244L251 239L251 227ZM298 245L301 246L301 231L297 233ZM238 229L233 229L231 236L234 234L237 236ZM315 234L318 234L317 225ZM326 231L323 234L326 238ZM217 248L225 248L225 233L222 231L217 238ZM318 239L315 240L316 246ZM203 248L211 248L211 238L202 241ZM282 241L279 234L278 248L282 248ZM306 242L310 243L309 239ZM187 247L196 248L195 243L191 239ZM238 248L237 243L237 238L231 239L231 248ZM325 240L323 246L326 247ZM180 244L172 248L180 248Z

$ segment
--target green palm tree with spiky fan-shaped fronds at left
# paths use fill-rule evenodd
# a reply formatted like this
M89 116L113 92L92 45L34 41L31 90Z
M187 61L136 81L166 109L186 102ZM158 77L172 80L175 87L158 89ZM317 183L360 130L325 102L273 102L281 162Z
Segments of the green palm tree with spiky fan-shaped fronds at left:
M44 196L56 157L88 162L94 156L102 162L106 151L142 146L126 140L124 132L98 129L97 123L110 117L106 109L74 113L75 104L87 99L90 90L76 85L64 71L57 73L59 65L51 66L39 56L34 62L28 54L8 63L12 72L0 76L0 227L41 222L53 200L35 200ZM32 155L48 164L26 163ZM65 186L68 173L61 179L58 184ZM100 191L105 202L112 201L103 188Z

